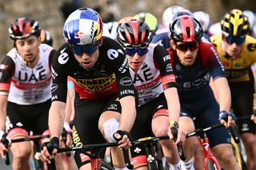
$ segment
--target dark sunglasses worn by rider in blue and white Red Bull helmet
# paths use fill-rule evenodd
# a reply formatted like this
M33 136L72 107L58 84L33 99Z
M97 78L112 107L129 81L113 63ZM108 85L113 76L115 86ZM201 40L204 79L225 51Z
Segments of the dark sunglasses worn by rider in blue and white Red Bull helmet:
M73 45L71 47L72 47L72 51L77 55L82 55L82 53L86 53L87 55L90 55L98 49L98 43L87 44L87 45Z

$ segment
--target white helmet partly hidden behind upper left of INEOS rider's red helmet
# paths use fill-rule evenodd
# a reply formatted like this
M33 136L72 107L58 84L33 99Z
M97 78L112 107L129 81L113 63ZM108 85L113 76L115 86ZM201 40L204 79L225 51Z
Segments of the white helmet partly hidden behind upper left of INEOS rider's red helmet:
M182 6L170 6L166 8L166 10L162 13L162 24L169 27L170 23L174 20L174 14L180 10L185 10L185 8Z

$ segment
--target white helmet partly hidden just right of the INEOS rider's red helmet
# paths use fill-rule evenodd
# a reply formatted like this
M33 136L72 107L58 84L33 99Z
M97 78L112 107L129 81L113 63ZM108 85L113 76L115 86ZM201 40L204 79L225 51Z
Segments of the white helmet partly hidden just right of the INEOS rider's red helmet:
M204 32L206 32L209 27L210 27L210 15L207 14L204 11L196 11L194 12L194 18L196 18L198 20L198 22L200 22L201 26L202 26L202 30Z

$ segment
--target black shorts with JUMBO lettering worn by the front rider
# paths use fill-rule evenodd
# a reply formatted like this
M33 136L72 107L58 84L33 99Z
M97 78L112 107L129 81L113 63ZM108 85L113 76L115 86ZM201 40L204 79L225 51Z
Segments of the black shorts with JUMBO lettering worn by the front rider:
M98 120L105 111L115 111L121 113L121 104L117 95L106 97L100 100L76 100L74 125L73 125L73 144L81 146L83 144L99 144L106 140L98 129ZM92 150L94 152L94 149ZM105 152L102 151L101 157ZM90 158L82 151L74 152L74 159L78 168L90 163Z

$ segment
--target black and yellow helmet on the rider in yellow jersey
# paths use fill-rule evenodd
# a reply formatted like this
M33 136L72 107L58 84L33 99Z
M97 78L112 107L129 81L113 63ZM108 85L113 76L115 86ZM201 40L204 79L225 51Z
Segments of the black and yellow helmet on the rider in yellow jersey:
M246 36L250 32L248 18L242 14L241 10L230 10L221 21L222 33L226 36Z

